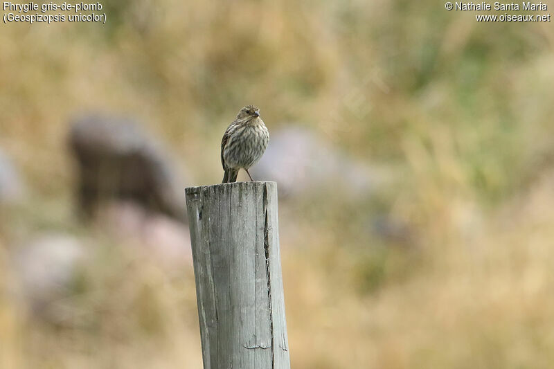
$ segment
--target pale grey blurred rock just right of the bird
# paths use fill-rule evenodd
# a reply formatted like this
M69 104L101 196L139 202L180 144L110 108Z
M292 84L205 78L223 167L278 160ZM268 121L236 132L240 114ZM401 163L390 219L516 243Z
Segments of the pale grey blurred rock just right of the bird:
M343 154L314 132L287 128L271 134L267 150L251 169L257 180L276 181L280 197L297 197L307 191L348 186L352 199L368 195L382 182L366 163Z

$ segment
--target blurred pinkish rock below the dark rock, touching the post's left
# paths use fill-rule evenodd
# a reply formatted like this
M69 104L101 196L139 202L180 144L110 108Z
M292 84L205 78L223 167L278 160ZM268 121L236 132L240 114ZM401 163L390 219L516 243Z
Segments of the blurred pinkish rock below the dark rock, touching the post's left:
M102 219L123 244L142 246L152 258L168 266L192 265L190 233L182 222L148 213L128 201L111 202Z

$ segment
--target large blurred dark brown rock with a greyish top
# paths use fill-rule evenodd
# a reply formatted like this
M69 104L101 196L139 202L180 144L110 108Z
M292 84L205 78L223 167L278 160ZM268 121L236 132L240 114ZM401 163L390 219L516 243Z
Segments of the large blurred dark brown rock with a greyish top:
M69 143L78 163L78 204L90 216L109 199L186 220L184 181L159 143L132 121L89 115L71 125Z

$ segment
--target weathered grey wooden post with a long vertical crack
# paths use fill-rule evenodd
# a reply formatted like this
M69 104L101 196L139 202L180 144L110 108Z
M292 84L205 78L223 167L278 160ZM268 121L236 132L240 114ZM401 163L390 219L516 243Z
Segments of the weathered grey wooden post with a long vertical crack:
M186 189L204 369L290 368L275 182Z

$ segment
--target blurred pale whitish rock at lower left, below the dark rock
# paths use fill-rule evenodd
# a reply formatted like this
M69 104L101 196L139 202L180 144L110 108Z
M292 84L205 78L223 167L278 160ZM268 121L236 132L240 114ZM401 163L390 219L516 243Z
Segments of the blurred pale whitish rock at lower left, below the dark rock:
M87 248L64 234L39 235L19 249L14 258L25 300L37 316L60 321L55 303L71 293L75 273L87 256Z

